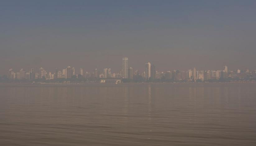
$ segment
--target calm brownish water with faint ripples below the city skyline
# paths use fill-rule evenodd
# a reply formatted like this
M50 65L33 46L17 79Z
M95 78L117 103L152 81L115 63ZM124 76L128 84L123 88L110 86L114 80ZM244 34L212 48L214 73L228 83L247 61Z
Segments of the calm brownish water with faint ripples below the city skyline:
M256 85L0 87L0 145L256 145Z

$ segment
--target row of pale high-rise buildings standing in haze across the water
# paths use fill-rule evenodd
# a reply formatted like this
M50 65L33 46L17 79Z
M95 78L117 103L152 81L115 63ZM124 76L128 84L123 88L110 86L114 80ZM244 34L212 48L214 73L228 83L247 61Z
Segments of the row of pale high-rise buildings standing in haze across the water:
M207 80L220 80L225 78L238 78L243 79L246 77L256 77L256 70L254 71L228 71L228 67L224 66L224 70L207 70L207 71L197 71L193 68L188 71L166 71L159 72L156 71L156 66L151 62L147 62L144 65L144 71L140 74L138 70L133 71L133 68L129 66L129 59L127 57L122 58L122 69L117 73L112 73L110 68L103 69L102 72L95 69L92 73L88 71L83 71L82 68L79 70L79 74L75 74L75 68L68 66L65 69L58 70L55 69L54 72L47 72L44 68L31 68L30 71L25 71L21 68L20 71L15 72L9 69L7 77L10 80L36 80L36 79L127 79L134 80L134 78L141 77L143 80L172 80L172 81L207 81Z

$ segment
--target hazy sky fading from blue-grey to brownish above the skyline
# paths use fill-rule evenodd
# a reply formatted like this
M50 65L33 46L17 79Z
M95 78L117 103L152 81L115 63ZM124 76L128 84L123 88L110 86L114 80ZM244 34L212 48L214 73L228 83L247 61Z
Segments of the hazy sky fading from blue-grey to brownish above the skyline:
M256 1L6 0L0 74L43 67L256 69Z

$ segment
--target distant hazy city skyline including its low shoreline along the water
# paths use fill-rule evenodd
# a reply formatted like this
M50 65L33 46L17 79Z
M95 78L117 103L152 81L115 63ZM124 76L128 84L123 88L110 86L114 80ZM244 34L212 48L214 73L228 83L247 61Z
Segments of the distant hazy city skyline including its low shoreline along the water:
M121 63L121 61L120 61ZM48 72L44 68L31 68L25 71L9 69L7 75L3 75L2 82L255 82L256 70L249 71L237 69L198 71L195 67L187 71L157 71L156 66L151 62L144 65L144 71L133 70L129 66L129 59L122 58L122 68L119 72L112 73L110 68L102 70L95 69L92 72L79 69L75 74L75 68L67 66L64 69L56 68L54 72Z

